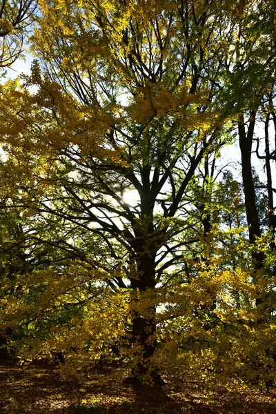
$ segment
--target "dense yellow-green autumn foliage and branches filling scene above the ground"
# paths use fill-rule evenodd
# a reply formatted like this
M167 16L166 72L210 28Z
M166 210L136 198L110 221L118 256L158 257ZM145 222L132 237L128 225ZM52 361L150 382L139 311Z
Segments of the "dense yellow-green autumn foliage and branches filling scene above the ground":
M22 359L275 380L275 13L40 1L32 75L0 102L0 321Z

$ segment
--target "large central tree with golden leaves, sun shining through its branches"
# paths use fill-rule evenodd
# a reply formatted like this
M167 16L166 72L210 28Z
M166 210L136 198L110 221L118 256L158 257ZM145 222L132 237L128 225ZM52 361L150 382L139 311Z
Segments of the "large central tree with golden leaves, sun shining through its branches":
M244 6L248 26L259 17L255 6ZM44 0L32 35L41 68L34 63L23 84L1 91L3 146L24 183L14 206L33 217L40 244L75 257L39 277L41 303L49 311L56 301L55 312L83 304L83 322L75 318L60 337L74 342L79 332L76 347L96 357L116 348L138 380L163 382L161 342L175 328L168 321L187 313L199 329L196 311L216 308L224 290L210 280L223 268L210 213L223 208L213 198L213 158L250 95L232 90L241 80L231 72L237 16L232 1ZM260 77L248 76L248 85Z

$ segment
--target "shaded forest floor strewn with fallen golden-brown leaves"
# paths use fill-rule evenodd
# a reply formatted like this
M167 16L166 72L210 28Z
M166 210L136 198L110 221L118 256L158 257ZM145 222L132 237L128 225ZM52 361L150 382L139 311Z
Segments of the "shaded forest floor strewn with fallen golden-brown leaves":
M55 365L20 366L15 359L1 361L0 413L276 414L275 388L266 395L257 386L242 391L217 386L210 391L191 380L163 387L106 384L102 375L95 373L81 382L61 377Z

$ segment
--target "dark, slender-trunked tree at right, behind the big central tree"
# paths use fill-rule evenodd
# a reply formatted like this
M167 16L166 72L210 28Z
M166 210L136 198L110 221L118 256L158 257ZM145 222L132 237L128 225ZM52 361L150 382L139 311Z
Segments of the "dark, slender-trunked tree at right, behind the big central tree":
M243 7L243 6L242 6ZM275 8L268 8L266 4L259 5L259 19L251 21L250 26L244 22L248 19L246 10L243 8L245 19L239 21L239 37L237 39L237 60L233 67L233 72L240 74L239 88L248 88L248 78L251 76L259 77L262 81L249 86L251 97L244 102L244 108L240 111L237 121L239 135L239 148L242 157L242 178L244 186L244 197L246 207L246 218L248 223L248 234L250 242L250 252L252 257L253 281L258 286L255 297L256 308L259 316L255 321L257 324L264 324L264 321L273 321L275 313L274 299L274 277L275 277L275 227L273 225L274 206L273 206L273 187L270 168L270 145L268 124L270 121L270 110L273 112L273 85L275 70ZM264 23L266 22L266 23ZM264 62L266 63L264 66ZM246 77L244 74L246 73ZM269 109L268 109L269 108ZM262 114L262 115L261 115ZM252 154L253 142L257 141L255 152L259 157L258 132L256 131L258 117L264 117L264 147L265 147L265 168L267 184L259 185L253 168ZM256 138L257 134L257 138ZM259 157L260 158L260 157ZM262 208L258 199L261 188L267 189L266 217L268 218L268 233L262 225L266 217L262 216ZM269 246L269 248L268 248ZM273 271L274 270L274 271ZM262 329L261 329L262 331ZM275 347L265 348L265 358L270 358L271 363L275 362ZM255 355L255 367L257 371L262 366L262 357ZM259 377L259 375L257 375ZM266 376L266 389L271 384L269 374Z

